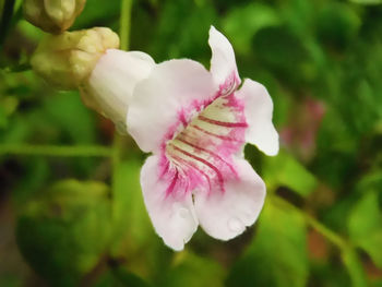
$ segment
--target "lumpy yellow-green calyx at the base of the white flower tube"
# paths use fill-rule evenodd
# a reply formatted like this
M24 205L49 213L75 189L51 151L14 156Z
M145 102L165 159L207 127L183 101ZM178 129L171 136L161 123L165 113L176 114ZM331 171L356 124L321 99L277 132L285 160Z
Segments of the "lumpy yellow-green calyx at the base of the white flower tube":
M107 49L118 48L119 38L109 28L48 35L31 59L33 70L62 89L74 89L91 75Z

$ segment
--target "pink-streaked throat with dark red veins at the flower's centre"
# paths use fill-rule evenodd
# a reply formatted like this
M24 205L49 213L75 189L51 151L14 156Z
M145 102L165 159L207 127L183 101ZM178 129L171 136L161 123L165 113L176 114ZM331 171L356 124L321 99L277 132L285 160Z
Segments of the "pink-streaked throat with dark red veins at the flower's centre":
M211 99L178 111L162 145L159 178L168 182L166 196L225 192L225 181L238 179L234 156L241 152L248 128L243 103L235 96L239 84L232 72Z

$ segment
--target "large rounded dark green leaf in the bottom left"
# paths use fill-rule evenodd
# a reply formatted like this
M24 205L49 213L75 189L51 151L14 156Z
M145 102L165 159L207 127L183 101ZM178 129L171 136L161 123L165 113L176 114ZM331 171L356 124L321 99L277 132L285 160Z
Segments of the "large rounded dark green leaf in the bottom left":
M111 235L108 188L65 180L26 204L16 226L20 250L52 286L76 286L107 250Z

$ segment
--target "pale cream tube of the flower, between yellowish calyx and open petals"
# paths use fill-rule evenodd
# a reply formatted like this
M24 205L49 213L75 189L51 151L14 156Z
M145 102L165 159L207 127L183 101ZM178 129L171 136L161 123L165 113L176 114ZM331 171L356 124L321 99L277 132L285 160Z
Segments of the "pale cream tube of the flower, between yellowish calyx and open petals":
M94 68L85 94L93 97L106 117L126 125L133 89L136 83L148 76L154 65L147 53L109 49Z

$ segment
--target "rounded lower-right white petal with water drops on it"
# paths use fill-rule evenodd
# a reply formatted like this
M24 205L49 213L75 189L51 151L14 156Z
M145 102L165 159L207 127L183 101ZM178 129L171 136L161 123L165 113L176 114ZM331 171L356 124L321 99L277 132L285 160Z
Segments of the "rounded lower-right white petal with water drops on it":
M264 204L265 184L244 159L236 159L238 179L225 182L225 191L194 195L196 216L210 236L229 240L251 226Z

